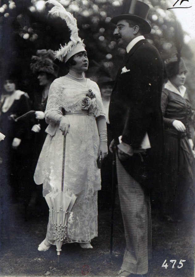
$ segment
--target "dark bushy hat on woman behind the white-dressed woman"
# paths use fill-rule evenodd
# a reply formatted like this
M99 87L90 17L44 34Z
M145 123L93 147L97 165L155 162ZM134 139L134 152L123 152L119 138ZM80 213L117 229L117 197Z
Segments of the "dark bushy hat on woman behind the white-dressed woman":
M37 50L36 56L31 58L31 70L33 73L44 72L57 77L58 66L54 63L54 51L49 49Z

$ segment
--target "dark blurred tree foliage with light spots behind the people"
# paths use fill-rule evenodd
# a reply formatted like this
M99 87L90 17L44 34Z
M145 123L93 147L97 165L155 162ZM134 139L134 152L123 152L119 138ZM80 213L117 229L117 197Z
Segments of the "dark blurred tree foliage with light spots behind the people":
M89 57L87 77L98 81L102 74L113 79L125 50L118 48L113 36L114 25L110 19L121 13L122 0L58 0L77 18L79 35L84 39ZM186 85L195 104L195 66L189 47L189 35L176 22L169 1L144 0L150 6L148 21L151 33L145 36L159 50L163 60L176 53L176 37L183 42L184 57L189 74ZM69 31L63 20L48 16L52 5L44 0L1 0L1 82L6 74L14 74L19 88L33 93L36 76L31 73L31 56L38 49L58 50L60 43L69 41ZM64 75L63 64L59 76ZM195 105L194 105L195 106Z

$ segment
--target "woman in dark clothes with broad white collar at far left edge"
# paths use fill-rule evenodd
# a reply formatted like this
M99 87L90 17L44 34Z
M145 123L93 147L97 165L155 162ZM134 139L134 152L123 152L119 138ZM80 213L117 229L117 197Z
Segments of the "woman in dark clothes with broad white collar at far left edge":
M7 78L0 97L0 132L6 137L0 144L0 155L6 170L6 179L16 199L25 183L26 157L29 155L29 122L15 118L30 110L27 93L16 90L16 81Z

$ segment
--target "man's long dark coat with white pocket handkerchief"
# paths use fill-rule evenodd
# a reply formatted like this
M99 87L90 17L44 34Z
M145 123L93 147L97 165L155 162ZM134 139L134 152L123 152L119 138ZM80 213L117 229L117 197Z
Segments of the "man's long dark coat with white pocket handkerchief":
M126 73L121 74L126 66ZM140 40L126 54L118 71L110 99L109 120L116 142L122 141L138 149L147 132L151 148L140 157L122 162L139 183L152 187L159 177L163 152L163 118L160 107L163 86L163 62L157 49ZM144 159L144 163L142 160Z

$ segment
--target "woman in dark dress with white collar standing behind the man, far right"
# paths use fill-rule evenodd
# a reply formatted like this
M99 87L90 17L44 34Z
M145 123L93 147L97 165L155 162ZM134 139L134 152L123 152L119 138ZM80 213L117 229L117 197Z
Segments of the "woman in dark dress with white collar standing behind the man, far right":
M194 213L194 153L190 134L192 110L184 86L187 68L182 58L165 61L168 81L164 85L161 108L164 117L165 217L176 222Z

